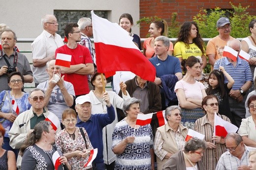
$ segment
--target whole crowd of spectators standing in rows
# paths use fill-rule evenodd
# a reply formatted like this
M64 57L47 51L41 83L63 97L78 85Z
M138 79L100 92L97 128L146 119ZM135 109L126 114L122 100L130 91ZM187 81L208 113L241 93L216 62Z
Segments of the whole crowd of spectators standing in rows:
M15 32L0 24L1 170L256 170L256 20L240 42L230 36L229 19L220 18L219 35L205 49L195 22L183 23L173 45L165 20L150 24L141 45L124 13L119 25L143 48L156 78L119 71L113 91L105 91L107 79L96 71L90 18L66 24L66 44L54 15L41 22L32 70L15 46ZM224 46L251 57L223 56ZM71 56L69 68L56 64L58 54ZM207 57L212 70L206 78ZM26 93L24 83L32 81L35 88ZM150 124L136 124L138 114L149 113ZM49 115L60 125L46 121ZM237 126L237 133L215 135L215 116ZM204 139L187 141L189 129Z

